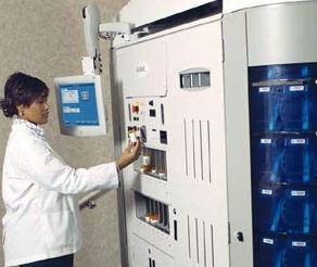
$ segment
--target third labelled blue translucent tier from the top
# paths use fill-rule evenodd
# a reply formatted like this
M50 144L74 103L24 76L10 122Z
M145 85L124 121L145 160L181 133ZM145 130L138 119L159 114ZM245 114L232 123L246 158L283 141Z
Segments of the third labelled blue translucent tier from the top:
M296 234L317 233L316 188L258 187L254 194L255 229Z

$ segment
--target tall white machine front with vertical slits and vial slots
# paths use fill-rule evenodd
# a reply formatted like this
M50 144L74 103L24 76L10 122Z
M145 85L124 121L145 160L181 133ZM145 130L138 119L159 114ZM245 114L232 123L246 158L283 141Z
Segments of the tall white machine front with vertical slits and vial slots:
M228 266L221 22L114 52L123 129L144 143L140 161L124 170L128 247L137 234L175 255L179 267ZM142 77L139 62L150 66ZM151 155L150 169L143 153ZM153 211L157 223L147 219Z

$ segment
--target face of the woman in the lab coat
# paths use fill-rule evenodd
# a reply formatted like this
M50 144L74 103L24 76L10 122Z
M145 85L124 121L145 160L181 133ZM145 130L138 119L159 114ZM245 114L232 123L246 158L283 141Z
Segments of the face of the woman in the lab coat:
M18 117L36 125L46 124L49 119L48 96L37 98L29 106L17 106Z

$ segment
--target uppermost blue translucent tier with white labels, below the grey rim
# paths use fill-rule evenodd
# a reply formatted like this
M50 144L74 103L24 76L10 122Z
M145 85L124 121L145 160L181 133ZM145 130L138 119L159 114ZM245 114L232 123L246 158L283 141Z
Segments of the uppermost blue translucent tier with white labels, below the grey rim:
M317 130L317 86L280 85L252 87L253 131Z

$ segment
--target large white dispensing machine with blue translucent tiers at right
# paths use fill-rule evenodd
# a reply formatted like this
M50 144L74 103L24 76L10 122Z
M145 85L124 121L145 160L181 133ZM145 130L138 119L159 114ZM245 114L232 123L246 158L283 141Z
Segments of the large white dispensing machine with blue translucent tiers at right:
M113 35L123 266L317 266L317 2L131 0Z

